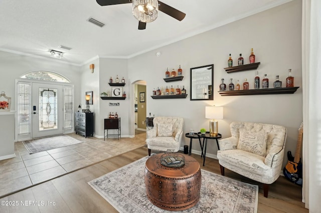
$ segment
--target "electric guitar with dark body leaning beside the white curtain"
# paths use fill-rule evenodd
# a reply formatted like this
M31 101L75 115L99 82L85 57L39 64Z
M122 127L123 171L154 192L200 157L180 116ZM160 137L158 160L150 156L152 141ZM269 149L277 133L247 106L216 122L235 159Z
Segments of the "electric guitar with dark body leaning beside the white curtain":
M302 145L302 136L303 136L303 122L301 123L298 129L296 150L294 157L291 154L291 151L287 152L287 164L283 168L284 176L291 182L302 185L302 163L300 159L300 151Z

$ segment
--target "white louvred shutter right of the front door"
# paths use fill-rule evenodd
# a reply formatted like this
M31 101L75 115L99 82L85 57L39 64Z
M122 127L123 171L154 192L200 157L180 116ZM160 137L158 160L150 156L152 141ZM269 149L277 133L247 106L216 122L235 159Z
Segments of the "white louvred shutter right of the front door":
M74 117L74 88L72 86L64 86L64 107L65 107L65 123L64 131L72 129Z

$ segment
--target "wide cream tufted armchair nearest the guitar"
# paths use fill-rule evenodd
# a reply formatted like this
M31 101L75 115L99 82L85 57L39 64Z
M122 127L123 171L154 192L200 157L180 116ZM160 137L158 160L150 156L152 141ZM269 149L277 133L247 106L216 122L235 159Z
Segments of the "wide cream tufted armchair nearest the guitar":
M286 128L281 125L232 122L231 137L219 140L221 174L224 167L263 183L264 196L282 170Z

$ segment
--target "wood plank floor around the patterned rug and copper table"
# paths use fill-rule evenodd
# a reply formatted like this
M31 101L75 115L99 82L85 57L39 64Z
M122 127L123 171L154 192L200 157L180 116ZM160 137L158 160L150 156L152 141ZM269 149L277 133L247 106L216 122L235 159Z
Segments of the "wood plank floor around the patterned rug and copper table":
M0 212L117 212L87 182L146 155L146 147L137 148L3 197L1 201L8 201L8 204L9 201L10 204L17 201L18 205L0 205ZM202 164L200 155L192 156ZM216 159L207 158L206 165L201 168L220 174ZM228 169L225 169L225 176L258 184ZM258 212L308 212L301 202L301 187L289 182L285 177L280 176L270 185L268 198L263 196L262 185L258 185Z

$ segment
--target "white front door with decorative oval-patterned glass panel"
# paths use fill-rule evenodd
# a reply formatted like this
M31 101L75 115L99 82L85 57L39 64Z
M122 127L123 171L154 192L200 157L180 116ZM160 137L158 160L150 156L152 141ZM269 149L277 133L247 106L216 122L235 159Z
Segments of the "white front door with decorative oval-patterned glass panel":
M32 137L63 133L63 86L33 83Z

